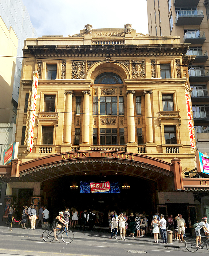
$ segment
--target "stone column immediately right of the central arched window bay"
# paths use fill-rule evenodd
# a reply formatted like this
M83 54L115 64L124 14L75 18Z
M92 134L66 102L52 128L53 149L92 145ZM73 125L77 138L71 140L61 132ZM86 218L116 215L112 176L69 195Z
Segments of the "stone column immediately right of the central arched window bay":
M126 94L127 94L128 143L136 143L134 104L133 104L133 94L134 93L135 93L135 91L126 91Z

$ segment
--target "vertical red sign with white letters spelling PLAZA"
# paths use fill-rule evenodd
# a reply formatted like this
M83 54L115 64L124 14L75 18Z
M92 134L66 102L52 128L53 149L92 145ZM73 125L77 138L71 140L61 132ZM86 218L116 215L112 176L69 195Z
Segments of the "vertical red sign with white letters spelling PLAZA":
M191 148L196 148L196 141L195 141L195 128L194 128L194 121L193 121L193 114L191 108L191 97L188 92L185 92L186 104L187 104L187 119L189 125L189 138L190 138L190 145Z

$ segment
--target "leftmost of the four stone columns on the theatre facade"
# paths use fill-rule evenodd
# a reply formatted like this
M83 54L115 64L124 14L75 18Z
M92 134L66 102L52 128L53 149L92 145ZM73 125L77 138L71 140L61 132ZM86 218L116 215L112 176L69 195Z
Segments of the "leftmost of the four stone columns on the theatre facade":
M64 124L64 142L63 144L71 145L72 133L72 96L73 91L65 91L65 124Z

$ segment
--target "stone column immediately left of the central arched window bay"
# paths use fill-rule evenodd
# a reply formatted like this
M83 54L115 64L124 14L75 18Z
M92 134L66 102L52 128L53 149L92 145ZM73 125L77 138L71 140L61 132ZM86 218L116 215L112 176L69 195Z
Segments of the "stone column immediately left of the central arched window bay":
M84 95L83 101L83 118L82 118L82 143L89 144L89 131L90 131L90 91L82 91ZM83 149L83 148L82 148Z

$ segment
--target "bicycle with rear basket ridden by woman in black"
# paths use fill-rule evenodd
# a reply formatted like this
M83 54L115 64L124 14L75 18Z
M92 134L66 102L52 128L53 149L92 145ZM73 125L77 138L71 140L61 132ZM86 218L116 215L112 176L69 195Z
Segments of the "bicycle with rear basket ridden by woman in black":
M57 237L62 233L61 238L64 243L69 244L69 243L73 242L73 240L74 240L73 232L71 230L66 230L65 225L63 226L63 230L60 230L60 229L62 229L62 227L57 229L57 231L60 231L60 233L57 234ZM44 232L42 234L42 238L45 242L52 242L54 240L53 229L44 230Z

